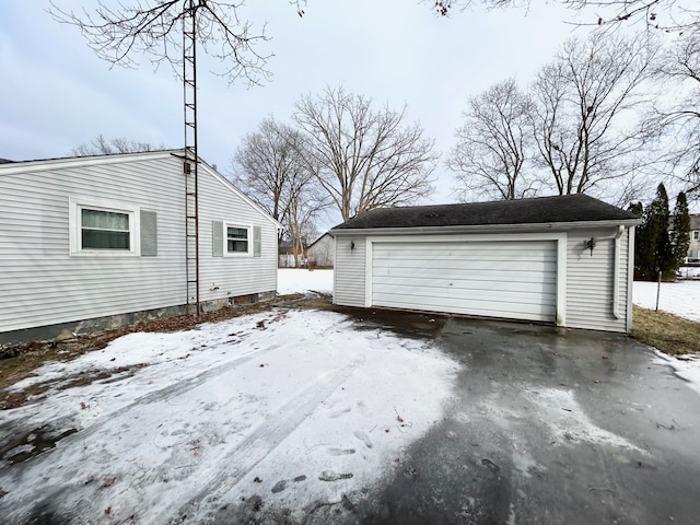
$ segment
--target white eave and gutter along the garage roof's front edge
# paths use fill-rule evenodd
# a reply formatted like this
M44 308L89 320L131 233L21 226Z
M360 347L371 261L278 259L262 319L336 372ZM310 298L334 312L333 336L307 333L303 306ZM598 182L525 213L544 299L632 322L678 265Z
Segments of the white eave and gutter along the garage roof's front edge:
M401 226L401 228L340 228L332 229L331 235L385 235L385 234L435 234L435 233L504 233L526 231L583 230L591 228L637 226L641 219L621 219L606 221L545 222L530 224L475 224L455 226Z

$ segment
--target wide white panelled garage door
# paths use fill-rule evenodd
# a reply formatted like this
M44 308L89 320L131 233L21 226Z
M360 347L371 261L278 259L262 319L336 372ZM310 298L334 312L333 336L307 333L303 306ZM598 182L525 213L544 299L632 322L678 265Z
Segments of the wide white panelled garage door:
M372 304L555 322L557 243L373 243Z

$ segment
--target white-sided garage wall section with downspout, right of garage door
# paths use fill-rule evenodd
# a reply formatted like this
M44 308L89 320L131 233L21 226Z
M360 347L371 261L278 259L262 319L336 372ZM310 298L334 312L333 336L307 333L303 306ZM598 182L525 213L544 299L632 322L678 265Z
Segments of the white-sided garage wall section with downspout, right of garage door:
M567 245L567 326L627 331L629 229L573 231ZM586 242L595 238L593 254ZM615 258L618 258L618 265ZM617 269L617 276L616 273ZM615 281L617 280L617 288ZM617 308L616 308L617 306ZM617 314L617 317L616 317Z

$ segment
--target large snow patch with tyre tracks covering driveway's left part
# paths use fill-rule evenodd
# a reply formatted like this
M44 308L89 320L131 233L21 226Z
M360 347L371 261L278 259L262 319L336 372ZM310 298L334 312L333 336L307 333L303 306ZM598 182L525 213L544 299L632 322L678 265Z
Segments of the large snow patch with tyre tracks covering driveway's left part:
M296 523L405 470L457 369L429 342L360 331L332 312L131 334L14 386L55 382L0 413L0 444L15 440L2 451L0 516L201 523L254 502Z

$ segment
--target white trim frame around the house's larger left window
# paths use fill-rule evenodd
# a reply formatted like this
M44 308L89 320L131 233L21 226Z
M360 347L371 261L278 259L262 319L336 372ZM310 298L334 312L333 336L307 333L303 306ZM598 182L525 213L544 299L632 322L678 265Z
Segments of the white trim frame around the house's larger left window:
M139 257L141 255L140 243L140 212L138 206L102 200L93 198L68 199L68 223L70 229L70 256L71 257ZM131 249L82 249L81 246L81 212L83 209L112 211L129 215L129 246Z

